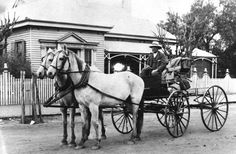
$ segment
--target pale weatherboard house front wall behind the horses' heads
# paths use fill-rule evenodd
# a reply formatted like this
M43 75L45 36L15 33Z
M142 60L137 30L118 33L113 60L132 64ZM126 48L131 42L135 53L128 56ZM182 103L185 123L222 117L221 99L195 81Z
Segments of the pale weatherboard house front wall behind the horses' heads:
M104 71L104 34L101 32L59 29L47 27L28 27L17 29L8 39L8 51L11 50L11 43L23 39L26 41L26 55L31 61L32 71L36 71L41 63L41 49L39 39L58 40L68 34L74 32L88 42L97 42L96 62L95 65Z

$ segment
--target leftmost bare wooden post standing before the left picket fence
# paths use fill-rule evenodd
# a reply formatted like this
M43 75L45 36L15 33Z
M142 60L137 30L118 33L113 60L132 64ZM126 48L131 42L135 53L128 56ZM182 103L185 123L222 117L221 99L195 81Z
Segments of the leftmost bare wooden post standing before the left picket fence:
M21 123L25 124L25 71L20 71L20 83L21 83Z

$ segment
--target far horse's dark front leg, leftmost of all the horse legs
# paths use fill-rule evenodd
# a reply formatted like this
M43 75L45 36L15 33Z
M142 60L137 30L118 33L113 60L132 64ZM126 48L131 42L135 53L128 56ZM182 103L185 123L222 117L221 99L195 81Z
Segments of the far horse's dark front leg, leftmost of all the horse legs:
M62 124L63 124L63 138L61 140L61 145L67 145L67 108L61 108L62 113Z

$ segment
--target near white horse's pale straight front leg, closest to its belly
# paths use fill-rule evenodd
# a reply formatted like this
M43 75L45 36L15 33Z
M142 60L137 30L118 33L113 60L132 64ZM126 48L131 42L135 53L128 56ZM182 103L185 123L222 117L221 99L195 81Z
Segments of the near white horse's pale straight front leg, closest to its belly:
M101 120L99 119L99 107L95 104L90 104L89 109L92 114L92 124L96 133L96 144L92 146L92 150L100 149L101 143Z

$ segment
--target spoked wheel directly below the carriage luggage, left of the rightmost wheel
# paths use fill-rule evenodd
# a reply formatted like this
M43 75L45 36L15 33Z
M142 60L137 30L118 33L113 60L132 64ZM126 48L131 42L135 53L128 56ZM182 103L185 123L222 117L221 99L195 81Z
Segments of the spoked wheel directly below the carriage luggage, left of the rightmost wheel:
M182 136L188 128L190 106L188 97L183 91L176 90L168 98L165 113L166 128L173 137Z

